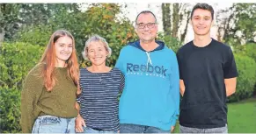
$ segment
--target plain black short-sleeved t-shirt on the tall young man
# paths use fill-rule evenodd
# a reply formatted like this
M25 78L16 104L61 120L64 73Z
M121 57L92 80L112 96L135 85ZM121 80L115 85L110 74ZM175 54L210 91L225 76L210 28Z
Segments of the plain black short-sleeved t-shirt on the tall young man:
M179 78L185 93L180 103L179 123L208 129L227 123L224 79L238 76L230 46L212 39L208 46L194 46L193 41L177 53Z

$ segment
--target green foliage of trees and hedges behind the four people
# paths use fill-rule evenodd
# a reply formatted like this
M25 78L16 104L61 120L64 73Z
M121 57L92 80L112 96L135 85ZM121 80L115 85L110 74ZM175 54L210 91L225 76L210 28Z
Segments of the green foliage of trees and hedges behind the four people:
M253 92L255 95L255 5L233 4L229 9L217 13L218 40L233 48L238 66L237 92L229 97L229 102L250 98ZM90 65L81 55L85 40L93 34L104 37L113 49L107 65L114 66L121 48L137 39L134 22L119 16L123 6L89 4L88 9L82 11L81 4L0 4L0 133L20 132L22 82L40 60L50 35L56 30L68 30L75 37L80 67ZM159 32L157 39L164 40L166 46L175 52L184 44L187 34L190 13L187 6L161 6L164 32ZM230 12L230 16L219 18L227 12ZM180 29L183 19L187 24L185 29Z

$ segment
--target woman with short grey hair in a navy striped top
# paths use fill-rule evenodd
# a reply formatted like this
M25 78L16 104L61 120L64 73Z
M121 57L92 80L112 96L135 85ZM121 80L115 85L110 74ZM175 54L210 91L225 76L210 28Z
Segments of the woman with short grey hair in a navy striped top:
M83 56L91 61L91 67L80 69L82 93L77 98L81 107L76 119L77 132L115 133L119 130L118 96L124 88L124 77L118 68L106 66L106 57L110 55L106 39L95 35L86 41ZM80 107L77 104L77 109Z

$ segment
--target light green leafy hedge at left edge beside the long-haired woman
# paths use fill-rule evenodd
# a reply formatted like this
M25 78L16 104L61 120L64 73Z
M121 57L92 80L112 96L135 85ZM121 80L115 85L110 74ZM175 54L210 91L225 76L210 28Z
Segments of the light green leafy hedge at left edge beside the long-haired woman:
M15 42L0 47L0 133L20 132L20 88L40 60L43 47Z

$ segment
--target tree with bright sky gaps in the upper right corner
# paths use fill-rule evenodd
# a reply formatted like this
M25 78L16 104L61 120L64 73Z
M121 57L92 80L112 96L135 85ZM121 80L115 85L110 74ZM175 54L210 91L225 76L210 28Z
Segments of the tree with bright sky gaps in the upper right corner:
M256 37L256 4L232 4L230 8L217 12L216 17L218 39L237 46Z

